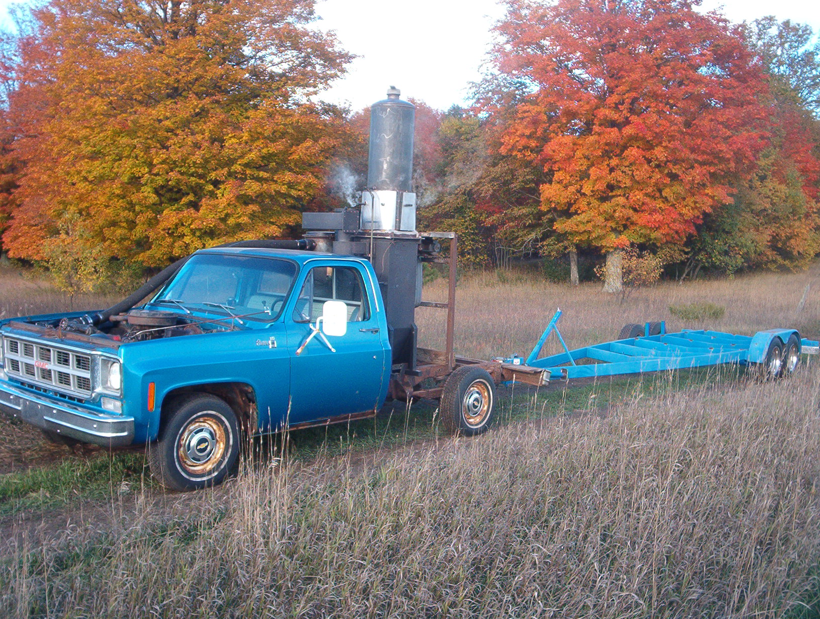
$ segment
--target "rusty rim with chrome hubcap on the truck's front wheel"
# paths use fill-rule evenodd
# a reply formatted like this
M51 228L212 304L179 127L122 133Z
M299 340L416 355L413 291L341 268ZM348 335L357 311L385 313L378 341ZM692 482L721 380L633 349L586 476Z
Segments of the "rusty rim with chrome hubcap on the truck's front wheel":
M227 422L214 411L204 412L180 430L177 456L183 470L198 478L216 474L227 447Z

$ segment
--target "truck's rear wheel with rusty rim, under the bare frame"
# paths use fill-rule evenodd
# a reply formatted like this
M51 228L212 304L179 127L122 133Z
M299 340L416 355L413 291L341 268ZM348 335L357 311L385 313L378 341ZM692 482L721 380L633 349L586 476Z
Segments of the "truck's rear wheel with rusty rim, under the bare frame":
M453 434L476 436L494 421L495 383L481 367L462 366L444 382L439 411Z

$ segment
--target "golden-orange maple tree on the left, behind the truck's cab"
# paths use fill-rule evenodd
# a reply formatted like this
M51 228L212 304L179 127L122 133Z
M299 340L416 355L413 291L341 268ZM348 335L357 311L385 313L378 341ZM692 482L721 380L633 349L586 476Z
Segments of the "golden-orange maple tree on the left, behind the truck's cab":
M298 224L339 143L315 95L349 60L310 27L312 0L52 0L32 16L8 100L11 256L57 239L162 266Z

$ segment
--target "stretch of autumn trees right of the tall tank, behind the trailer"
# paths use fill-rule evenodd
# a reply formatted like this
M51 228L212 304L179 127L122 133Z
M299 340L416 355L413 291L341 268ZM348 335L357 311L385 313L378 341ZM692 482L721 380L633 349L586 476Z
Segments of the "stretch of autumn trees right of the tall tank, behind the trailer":
M476 107L437 116L419 183L426 224L461 232L465 261L599 253L617 289L626 248L679 278L820 252L808 26L688 2L508 5Z

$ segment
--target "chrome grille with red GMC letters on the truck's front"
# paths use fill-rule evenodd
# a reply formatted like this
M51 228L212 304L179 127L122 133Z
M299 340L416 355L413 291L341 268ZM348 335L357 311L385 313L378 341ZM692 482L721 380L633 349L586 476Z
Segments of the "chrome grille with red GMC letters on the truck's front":
M5 338L6 371L39 387L90 397L91 356L22 339Z

